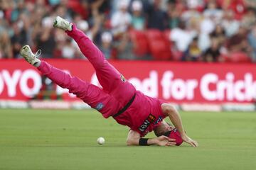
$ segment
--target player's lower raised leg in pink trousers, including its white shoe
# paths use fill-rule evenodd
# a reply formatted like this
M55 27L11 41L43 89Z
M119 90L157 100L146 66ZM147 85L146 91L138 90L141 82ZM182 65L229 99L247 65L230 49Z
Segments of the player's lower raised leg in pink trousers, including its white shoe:
M78 77L71 77L70 74L51 66L47 62L38 60L31 52L28 45L22 47L21 55L27 62L37 67L43 75L46 75L46 77L55 82L55 84L68 89L70 93L75 94L78 98L81 98L82 101L89 104L92 108L97 109L105 116L104 113L107 111L106 109L109 108L105 107L102 109L102 107L107 106L107 103L112 101L112 97L109 94L106 94L95 85L78 79Z

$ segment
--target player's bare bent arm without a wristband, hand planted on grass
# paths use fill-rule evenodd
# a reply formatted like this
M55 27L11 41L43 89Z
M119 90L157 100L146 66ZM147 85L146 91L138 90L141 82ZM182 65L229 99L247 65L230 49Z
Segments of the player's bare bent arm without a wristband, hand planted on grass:
M182 140L192 147L198 147L198 142L196 142L196 140L192 140L188 135L186 135L182 125L181 115L176 111L176 108L171 106L169 103L163 103L161 105L161 109L166 116L169 116L171 123L173 123L178 132L180 132Z

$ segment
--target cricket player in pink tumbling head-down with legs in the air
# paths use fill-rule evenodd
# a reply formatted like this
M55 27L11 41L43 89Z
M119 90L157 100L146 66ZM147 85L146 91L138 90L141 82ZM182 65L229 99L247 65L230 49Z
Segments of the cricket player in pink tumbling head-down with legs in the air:
M71 77L70 74L39 60L38 56L41 51L34 55L31 48L24 45L20 53L28 63L37 67L43 75L54 81L55 84L69 89L70 93L75 94L82 101L102 113L104 118L112 117L117 123L127 125L130 128L127 145L174 146L181 145L184 141L193 147L198 147L198 142L186 135L181 116L174 106L137 91L117 69L107 62L102 52L87 35L78 30L75 24L57 16L53 26L64 30L78 43L82 54L95 68L102 89L82 81L78 77ZM169 117L174 127L164 121L166 117ZM156 135L155 138L144 138L144 135L153 130Z

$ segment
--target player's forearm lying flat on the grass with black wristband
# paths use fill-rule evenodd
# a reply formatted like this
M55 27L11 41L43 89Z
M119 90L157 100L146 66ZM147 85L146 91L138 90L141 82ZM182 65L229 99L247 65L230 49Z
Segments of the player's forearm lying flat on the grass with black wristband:
M147 145L159 145L159 146L175 146L176 142L175 139L171 139L166 136L159 136L155 138L141 138L139 133L134 130L129 130L128 136L127 136L127 145L141 145L141 146L147 146Z

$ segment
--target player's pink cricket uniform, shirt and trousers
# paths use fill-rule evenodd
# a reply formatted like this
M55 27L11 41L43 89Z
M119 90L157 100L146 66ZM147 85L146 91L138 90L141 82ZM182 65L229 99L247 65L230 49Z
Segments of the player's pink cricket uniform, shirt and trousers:
M66 33L78 43L82 54L92 63L102 89L78 77L71 77L70 74L47 62L42 61L38 70L53 80L55 84L69 89L70 93L102 113L104 118L113 116L117 123L127 125L139 132L141 137L154 130L166 117L161 111L162 102L136 91L134 86L105 60L102 52L75 25L72 31L66 31ZM131 101L131 105L123 113L114 116Z

